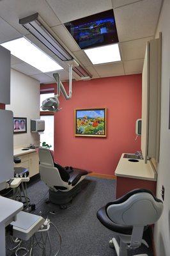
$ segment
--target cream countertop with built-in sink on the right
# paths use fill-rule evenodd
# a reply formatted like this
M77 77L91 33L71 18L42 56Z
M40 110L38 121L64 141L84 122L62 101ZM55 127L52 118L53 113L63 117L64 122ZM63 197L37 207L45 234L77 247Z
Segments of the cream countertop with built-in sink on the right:
M138 162L130 162L128 158L123 158L124 154L121 155L120 161L115 171L115 175L118 177L128 177L131 179L141 180L157 180L157 172L150 161L147 164L144 163L143 159L137 159Z

